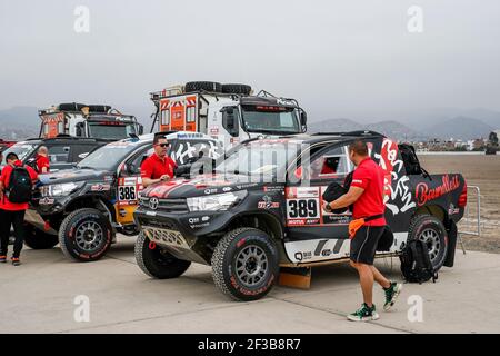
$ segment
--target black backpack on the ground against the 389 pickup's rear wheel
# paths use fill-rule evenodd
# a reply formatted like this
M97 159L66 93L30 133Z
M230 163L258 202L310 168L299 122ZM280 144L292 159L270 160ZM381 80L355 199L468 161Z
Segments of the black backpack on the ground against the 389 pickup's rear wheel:
M431 278L436 283L438 279L426 243L417 239L410 240L399 258L401 271L408 283L422 284Z

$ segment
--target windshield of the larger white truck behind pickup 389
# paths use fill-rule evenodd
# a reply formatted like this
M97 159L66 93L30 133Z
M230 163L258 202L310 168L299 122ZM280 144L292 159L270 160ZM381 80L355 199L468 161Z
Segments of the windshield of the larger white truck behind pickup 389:
M302 132L297 110L279 106L242 106L243 125L248 132L288 135Z

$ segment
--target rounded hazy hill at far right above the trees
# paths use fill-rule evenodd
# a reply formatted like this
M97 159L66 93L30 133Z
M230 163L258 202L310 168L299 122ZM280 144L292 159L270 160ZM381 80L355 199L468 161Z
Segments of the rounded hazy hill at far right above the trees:
M436 123L426 130L426 134L436 138L473 139L487 138L496 128L481 120L467 117L457 117Z

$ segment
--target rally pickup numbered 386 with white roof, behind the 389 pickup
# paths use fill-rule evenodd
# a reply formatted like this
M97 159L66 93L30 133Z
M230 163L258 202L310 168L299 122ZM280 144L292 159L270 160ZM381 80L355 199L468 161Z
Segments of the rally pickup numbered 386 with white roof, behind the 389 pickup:
M218 141L196 132L164 132L169 155L180 167L199 152L218 158ZM150 156L153 135L111 142L91 152L73 169L41 175L26 215L26 244L33 249L58 243L73 260L100 259L116 233L137 235L133 211L142 189L140 165Z

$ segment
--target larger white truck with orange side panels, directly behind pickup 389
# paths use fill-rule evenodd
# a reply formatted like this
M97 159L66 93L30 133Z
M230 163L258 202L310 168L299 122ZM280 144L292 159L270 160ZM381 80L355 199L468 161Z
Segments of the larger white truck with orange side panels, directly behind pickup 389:
M307 113L294 99L262 90L253 95L247 85L188 82L152 92L156 106L151 132L194 131L211 136L229 149L260 136L307 131Z

